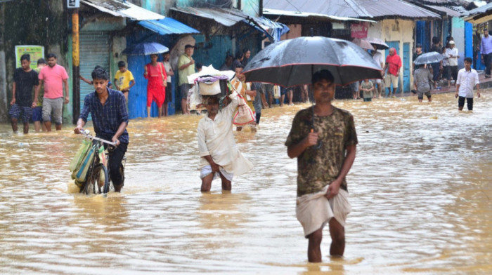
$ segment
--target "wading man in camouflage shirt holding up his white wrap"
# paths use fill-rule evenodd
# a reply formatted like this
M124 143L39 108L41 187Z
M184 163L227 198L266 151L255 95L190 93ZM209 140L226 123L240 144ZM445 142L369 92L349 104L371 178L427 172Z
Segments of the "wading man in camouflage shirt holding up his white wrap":
M356 156L354 117L332 105L334 78L328 70L312 76L316 105L302 109L292 121L285 142L287 155L297 158L297 220L309 239L309 262L321 262L323 227L328 223L330 255L345 250L345 220L350 213L345 176Z

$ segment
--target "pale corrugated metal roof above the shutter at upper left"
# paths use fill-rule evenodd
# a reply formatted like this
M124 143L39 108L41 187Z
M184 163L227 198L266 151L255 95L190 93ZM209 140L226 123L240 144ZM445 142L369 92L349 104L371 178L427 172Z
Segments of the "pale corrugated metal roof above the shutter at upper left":
M164 19L164 15L148 11L145 8L141 8L128 2L123 3L117 0L81 0L80 2L93 8L97 8L104 13L109 13L110 15L117 17L129 18L131 20Z

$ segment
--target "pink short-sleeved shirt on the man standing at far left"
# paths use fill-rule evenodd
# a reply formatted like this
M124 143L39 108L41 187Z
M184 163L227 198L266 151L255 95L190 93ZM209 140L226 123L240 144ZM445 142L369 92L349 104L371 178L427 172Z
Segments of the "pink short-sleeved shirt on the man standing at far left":
M68 79L64 67L58 64L45 66L39 72L39 79L44 81L44 98L63 98L63 79Z

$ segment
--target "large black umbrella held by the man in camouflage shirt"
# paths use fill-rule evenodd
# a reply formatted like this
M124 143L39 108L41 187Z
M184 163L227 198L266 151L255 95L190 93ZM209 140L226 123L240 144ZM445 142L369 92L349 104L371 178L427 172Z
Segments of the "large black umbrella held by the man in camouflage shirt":
M356 44L328 37L297 37L266 46L244 69L247 81L289 87L311 83L311 76L328 69L335 84L381 79L381 68Z

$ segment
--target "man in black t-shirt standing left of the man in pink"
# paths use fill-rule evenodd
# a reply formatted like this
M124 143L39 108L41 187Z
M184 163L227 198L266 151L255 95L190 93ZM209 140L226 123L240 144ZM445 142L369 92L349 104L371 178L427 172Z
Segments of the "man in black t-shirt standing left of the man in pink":
M20 57L20 66L13 73L12 101L8 114L11 116L13 133L17 133L17 121L22 113L23 130L27 134L29 133L29 120L32 117L32 109L37 106L39 80L37 72L31 69L30 55L24 54ZM35 88L34 100L32 100L33 88Z

